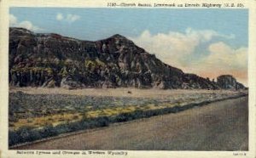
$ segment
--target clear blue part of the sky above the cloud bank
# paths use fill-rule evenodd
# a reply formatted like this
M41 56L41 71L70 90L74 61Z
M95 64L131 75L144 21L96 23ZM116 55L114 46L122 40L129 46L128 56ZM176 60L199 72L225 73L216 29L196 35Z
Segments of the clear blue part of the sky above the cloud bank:
M77 14L80 19L58 21L56 14ZM46 32L58 32L84 40L98 40L119 33L138 36L168 31L214 30L235 35L234 45L247 46L247 9L163 9L163 8L10 8L18 20L30 20Z

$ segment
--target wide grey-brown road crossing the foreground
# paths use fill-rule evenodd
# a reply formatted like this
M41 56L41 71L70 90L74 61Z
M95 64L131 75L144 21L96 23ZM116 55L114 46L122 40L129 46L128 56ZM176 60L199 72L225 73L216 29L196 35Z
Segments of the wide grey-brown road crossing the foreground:
M247 150L247 97L93 132L21 146L19 150Z

